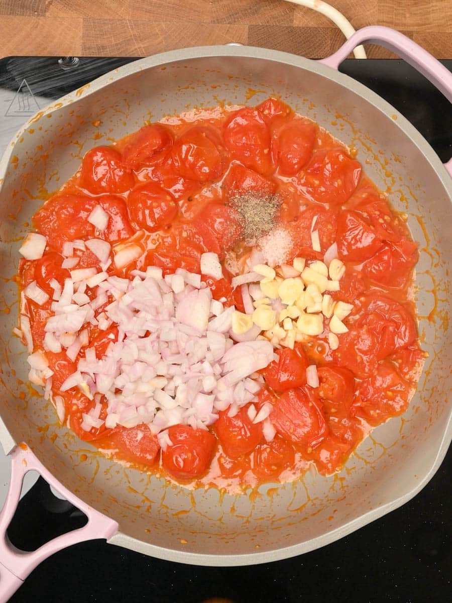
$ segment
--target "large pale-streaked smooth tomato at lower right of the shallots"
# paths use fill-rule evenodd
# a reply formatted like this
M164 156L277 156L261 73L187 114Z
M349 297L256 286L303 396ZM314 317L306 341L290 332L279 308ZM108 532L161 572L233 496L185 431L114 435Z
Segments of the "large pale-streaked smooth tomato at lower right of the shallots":
M328 432L319 400L307 385L286 391L270 413L270 420L278 434L304 449L318 446Z

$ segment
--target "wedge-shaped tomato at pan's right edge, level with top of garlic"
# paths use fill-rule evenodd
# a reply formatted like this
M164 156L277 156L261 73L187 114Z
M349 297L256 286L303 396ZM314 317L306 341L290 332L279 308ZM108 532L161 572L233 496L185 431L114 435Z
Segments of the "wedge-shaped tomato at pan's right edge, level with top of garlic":
M417 248L412 241L388 243L364 262L363 272L378 285L402 288L418 260Z

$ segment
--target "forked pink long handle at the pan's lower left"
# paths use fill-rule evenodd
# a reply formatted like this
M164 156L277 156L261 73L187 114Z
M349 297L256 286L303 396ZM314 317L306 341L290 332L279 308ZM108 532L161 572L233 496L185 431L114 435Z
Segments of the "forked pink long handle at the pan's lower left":
M94 538L111 538L118 531L118 523L113 519L95 511L82 500L64 488L48 470L38 461L27 444L19 444L10 453L11 479L4 507L0 513L0 603L8 601L19 588L28 574L50 555L85 540ZM20 490L24 475L31 469L42 475L46 482L55 488L75 507L78 507L88 517L88 523L83 528L62 534L40 546L33 552L16 549L7 536L7 528L16 512L20 498Z

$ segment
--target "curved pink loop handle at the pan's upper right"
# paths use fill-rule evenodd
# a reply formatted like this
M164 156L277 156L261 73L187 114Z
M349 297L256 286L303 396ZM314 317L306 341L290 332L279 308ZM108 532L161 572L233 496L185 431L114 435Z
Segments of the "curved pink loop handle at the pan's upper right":
M432 82L433 86L438 88L439 92L442 92L452 103L451 72L424 48L421 48L399 31L392 30L389 27L380 27L379 25L363 27L356 31L337 52L331 54L330 57L322 58L319 63L337 69L356 46L365 42L385 46L385 48L398 54L409 65L424 75L428 81ZM445 168L452 176L452 159L445 163Z

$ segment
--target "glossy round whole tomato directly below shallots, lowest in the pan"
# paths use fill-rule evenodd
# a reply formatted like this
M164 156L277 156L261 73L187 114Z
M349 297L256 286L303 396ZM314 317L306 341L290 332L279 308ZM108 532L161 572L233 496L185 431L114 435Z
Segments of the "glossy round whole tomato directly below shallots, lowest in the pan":
M168 473L178 479L191 479L207 471L216 446L215 435L188 425L173 425L168 435L172 445L162 450L163 468Z

